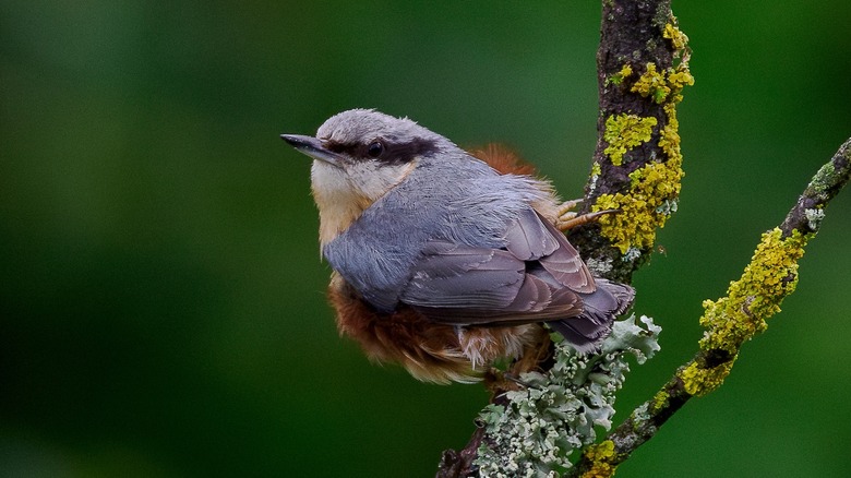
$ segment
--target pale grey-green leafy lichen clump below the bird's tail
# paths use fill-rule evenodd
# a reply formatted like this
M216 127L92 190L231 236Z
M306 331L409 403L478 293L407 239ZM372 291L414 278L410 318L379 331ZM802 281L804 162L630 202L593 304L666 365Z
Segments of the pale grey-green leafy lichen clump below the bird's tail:
M661 327L635 315L618 321L600 354L578 355L555 345L555 365L546 374L524 373L524 390L507 392L506 405L489 405L479 416L486 437L476 465L488 477L559 477L571 455L597 438L595 427L609 430L615 393L630 371L659 350Z

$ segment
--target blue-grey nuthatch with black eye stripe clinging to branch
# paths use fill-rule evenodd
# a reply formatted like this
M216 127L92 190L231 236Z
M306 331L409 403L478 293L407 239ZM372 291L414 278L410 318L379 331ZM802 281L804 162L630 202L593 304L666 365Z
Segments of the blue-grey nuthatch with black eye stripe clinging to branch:
M502 150L477 158L369 109L281 139L313 158L337 326L373 360L471 382L494 360L537 352L541 323L592 351L633 301L632 287L591 276L556 227L552 186L514 174Z

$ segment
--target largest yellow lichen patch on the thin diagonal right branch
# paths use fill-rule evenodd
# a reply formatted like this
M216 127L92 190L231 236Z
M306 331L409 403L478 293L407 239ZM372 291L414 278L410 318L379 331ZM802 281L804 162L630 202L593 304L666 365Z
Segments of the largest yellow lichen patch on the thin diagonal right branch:
M745 340L766 328L766 319L780 311L780 303L798 284L798 261L807 237L793 231L783 238L779 228L763 235L751 263L739 280L730 283L727 297L704 301L700 325L708 328L700 340L704 350L735 354Z

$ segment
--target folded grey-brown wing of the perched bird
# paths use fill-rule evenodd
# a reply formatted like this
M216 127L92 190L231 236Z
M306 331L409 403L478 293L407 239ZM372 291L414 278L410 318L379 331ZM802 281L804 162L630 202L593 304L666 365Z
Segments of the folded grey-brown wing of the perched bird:
M588 268L564 236L537 212L518 215L505 249L432 240L425 243L399 300L454 324L506 324L583 313L596 290Z

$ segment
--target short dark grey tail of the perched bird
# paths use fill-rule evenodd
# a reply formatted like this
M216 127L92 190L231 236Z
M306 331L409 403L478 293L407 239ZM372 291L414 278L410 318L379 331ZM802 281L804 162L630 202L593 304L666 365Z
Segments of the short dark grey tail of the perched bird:
M635 298L635 289L627 285L601 278L596 283L597 290L592 294L579 295L583 298L582 315L547 323L580 354L599 349L600 342L611 332L615 316L628 309Z

